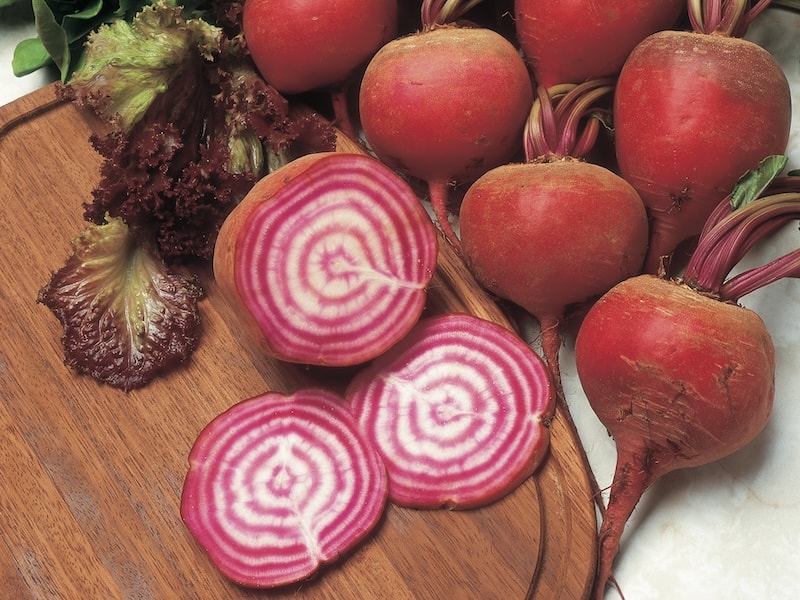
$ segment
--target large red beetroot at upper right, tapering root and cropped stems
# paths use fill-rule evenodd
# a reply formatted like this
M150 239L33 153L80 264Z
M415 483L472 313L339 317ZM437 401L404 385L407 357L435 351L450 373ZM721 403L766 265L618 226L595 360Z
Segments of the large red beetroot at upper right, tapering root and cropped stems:
M649 36L620 73L616 154L650 214L646 272L668 265L742 173L786 148L786 76L766 50L737 37L768 1L749 12L746 4L690 2L694 31Z

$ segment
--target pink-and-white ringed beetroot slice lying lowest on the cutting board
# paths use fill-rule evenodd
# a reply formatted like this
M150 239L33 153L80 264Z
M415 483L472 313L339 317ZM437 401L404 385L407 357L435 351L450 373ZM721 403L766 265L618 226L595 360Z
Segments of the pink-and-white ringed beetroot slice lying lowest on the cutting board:
M309 388L245 400L189 455L181 517L220 571L247 587L309 577L379 522L387 477L342 399Z

